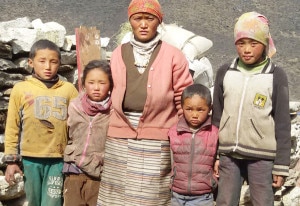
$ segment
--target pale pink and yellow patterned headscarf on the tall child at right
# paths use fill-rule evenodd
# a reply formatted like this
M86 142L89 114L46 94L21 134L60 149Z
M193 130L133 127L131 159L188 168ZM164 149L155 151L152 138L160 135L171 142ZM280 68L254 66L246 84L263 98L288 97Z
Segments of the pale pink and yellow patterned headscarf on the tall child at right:
M250 38L266 46L266 55L272 57L276 53L269 30L268 19L255 11L242 14L234 27L235 43L242 38Z

